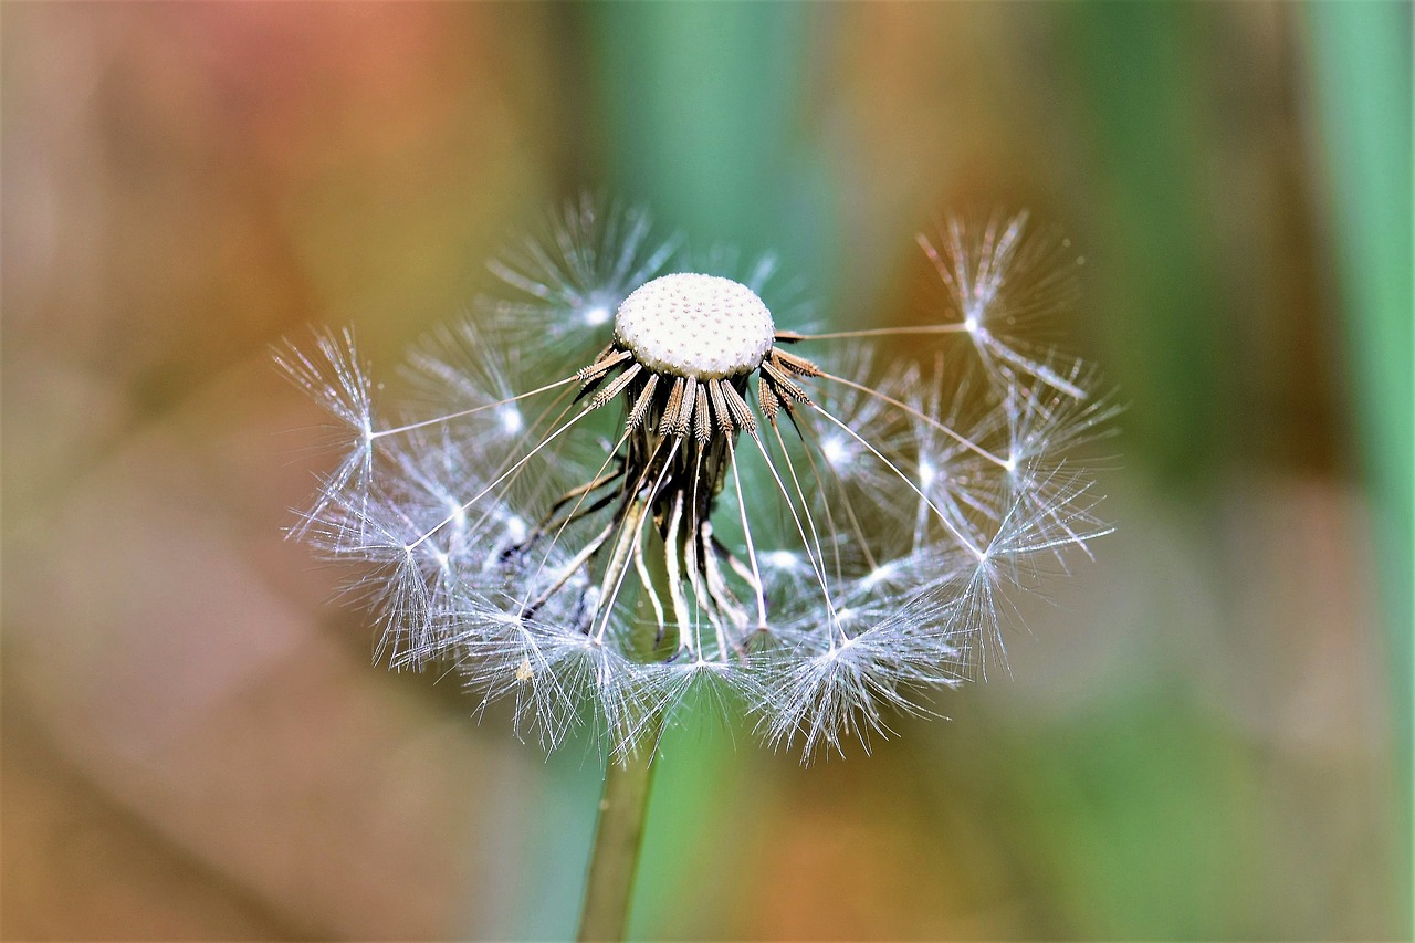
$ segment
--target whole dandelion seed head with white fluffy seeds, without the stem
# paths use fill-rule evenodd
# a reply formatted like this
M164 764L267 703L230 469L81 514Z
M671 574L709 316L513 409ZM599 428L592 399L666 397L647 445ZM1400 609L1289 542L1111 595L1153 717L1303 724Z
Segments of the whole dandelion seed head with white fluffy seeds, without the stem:
M867 746L1000 663L1007 590L1108 531L1068 456L1111 408L1013 337L1054 263L1024 222L921 238L927 323L807 333L770 261L570 204L409 357L422 406L375 405L348 333L277 355L347 445L294 532L364 565L395 667L454 665L548 746L591 724L625 753L705 699L804 756Z

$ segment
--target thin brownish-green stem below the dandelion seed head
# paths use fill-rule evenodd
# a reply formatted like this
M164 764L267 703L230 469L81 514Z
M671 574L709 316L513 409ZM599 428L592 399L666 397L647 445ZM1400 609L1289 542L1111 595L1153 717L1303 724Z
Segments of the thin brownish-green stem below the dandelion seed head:
M662 721L661 714L655 715L644 746L624 763L616 763L611 758L604 773L600 823L594 831L590 878L580 915L580 940L624 939L638 850L644 844L648 794L654 782L654 748Z

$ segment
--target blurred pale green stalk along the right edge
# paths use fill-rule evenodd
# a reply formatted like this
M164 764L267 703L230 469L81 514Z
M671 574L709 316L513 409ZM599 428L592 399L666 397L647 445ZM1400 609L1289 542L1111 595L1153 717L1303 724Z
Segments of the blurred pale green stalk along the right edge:
M1329 170L1330 225L1347 312L1350 378L1368 483L1387 664L1395 695L1399 905L1411 908L1412 241L1411 6L1306 7L1312 81ZM1408 925L1407 925L1408 927Z

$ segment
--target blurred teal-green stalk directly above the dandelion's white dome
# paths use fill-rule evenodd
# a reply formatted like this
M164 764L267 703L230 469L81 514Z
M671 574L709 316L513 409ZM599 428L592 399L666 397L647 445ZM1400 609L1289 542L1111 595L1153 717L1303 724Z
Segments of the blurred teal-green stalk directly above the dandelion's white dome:
M780 252L815 287L835 273L836 234L819 157L797 139L811 13L596 3L586 25L597 170L613 191L682 227L696 248Z

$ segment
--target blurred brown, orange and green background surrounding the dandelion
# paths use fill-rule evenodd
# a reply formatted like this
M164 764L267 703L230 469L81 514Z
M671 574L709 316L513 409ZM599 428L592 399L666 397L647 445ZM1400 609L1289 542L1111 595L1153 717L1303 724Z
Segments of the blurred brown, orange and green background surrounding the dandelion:
M642 939L1409 939L1411 7L21 4L6 939L556 939L601 767L369 664L267 345L385 367L584 187L917 316L1030 208L1118 532L874 755L665 743ZM293 430L293 432L291 432Z

